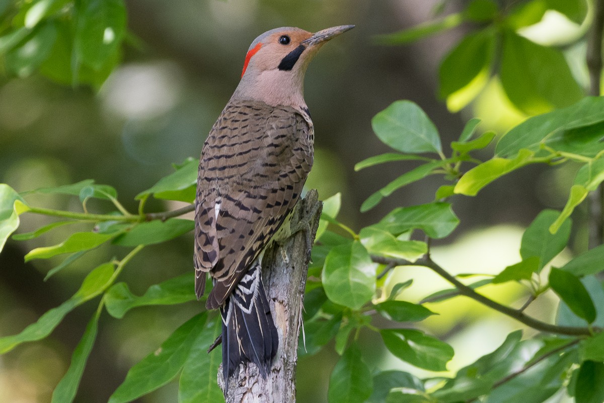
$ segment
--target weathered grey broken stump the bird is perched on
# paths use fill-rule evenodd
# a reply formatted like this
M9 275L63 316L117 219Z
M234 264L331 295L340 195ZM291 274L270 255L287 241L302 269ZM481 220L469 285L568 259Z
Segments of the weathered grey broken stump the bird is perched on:
M307 239L315 239L322 204L316 190L298 202L290 221L295 228L307 222L309 233L299 231L266 251L262 260L262 279L271 304L271 312L279 333L279 350L271 372L262 378L255 364L240 364L239 371L229 379L225 393L222 366L218 384L225 393L226 403L294 403L296 401L296 364L298 336L302 320L304 286L308 272Z

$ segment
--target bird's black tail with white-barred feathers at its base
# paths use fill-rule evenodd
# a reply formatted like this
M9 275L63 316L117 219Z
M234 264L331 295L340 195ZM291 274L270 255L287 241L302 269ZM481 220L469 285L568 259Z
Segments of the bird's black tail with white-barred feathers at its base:
M222 375L228 378L240 363L256 364L266 378L277 353L279 337L266 298L260 265L254 265L220 307L222 315Z

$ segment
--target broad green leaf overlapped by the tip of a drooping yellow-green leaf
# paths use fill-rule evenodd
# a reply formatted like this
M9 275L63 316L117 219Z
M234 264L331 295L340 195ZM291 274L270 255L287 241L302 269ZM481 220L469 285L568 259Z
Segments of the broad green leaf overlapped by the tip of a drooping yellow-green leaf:
M570 237L570 219L567 219L555 234L550 232L550 226L557 216L556 210L541 211L522 234L520 256L522 260L539 257L539 271L564 250Z

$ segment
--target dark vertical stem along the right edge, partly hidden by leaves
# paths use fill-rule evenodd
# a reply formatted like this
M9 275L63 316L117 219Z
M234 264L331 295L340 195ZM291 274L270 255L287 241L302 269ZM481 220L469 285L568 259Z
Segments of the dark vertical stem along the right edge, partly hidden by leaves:
M590 95L600 95L600 77L602 77L602 34L604 31L604 0L594 1L594 19L587 43L587 68L590 72ZM604 187L600 185L590 193L590 248L602 244L604 233Z

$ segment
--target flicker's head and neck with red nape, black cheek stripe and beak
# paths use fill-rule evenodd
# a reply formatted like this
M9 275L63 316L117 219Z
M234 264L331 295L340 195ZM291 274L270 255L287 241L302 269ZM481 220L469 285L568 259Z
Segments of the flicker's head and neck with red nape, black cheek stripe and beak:
M304 73L316 51L354 27L341 25L314 34L295 27L266 31L249 46L234 96L271 105L297 102L303 97Z

